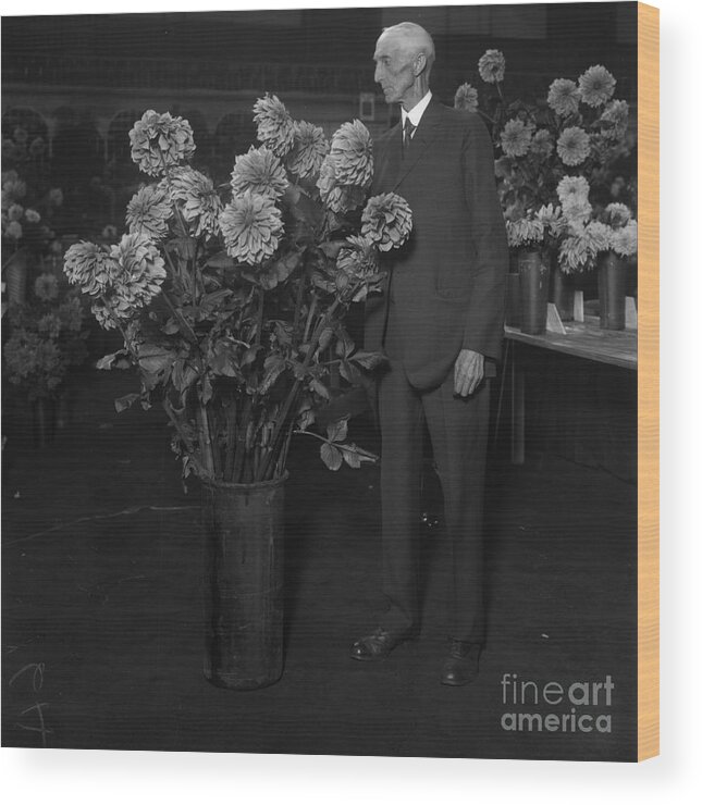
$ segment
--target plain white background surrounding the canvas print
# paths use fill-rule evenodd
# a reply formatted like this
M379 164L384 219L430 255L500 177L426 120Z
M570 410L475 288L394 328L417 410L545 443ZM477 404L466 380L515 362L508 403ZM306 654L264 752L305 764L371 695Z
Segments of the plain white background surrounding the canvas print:
M297 2L304 8L422 5ZM465 3L444 3L465 4ZM661 9L662 123L662 757L642 765L521 760L440 760L293 755L212 755L79 751L0 752L8 802L112 803L598 803L690 802L700 791L700 332L699 233L702 75L698 3L657 0ZM284 2L206 0L99 4L23 0L3 15L285 8ZM697 169L697 170L695 170ZM695 184L697 177L697 184ZM698 616L695 618L695 615ZM697 772L697 773L695 773Z

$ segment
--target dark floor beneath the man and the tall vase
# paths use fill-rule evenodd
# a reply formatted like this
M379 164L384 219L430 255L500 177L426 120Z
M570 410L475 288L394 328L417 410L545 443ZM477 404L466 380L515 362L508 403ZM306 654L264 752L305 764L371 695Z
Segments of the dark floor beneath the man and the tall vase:
M633 759L635 485L533 448L514 467L492 448L489 643L478 681L452 689L439 683L441 524L424 527L420 639L379 665L350 660L378 603L378 469L329 472L312 441L298 442L285 672L264 690L224 691L202 678L198 490L185 494L158 412L114 413L133 382L85 370L72 421L42 448L30 412L5 403L4 746ZM609 674L611 706L575 715L609 716L611 732L571 719L564 730L570 704L503 704L512 673L564 688ZM558 729L507 731L513 711L558 714Z

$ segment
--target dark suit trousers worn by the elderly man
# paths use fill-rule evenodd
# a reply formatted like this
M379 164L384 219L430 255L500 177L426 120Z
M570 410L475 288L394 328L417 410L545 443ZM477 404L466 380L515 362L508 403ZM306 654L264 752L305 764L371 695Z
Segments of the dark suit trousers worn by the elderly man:
M419 626L418 538L422 435L426 420L444 497L452 562L446 593L447 636L484 642L482 512L490 417L490 381L468 398L454 395L453 371L436 388L418 391L401 361L379 381L382 437L383 593L380 626L411 634Z

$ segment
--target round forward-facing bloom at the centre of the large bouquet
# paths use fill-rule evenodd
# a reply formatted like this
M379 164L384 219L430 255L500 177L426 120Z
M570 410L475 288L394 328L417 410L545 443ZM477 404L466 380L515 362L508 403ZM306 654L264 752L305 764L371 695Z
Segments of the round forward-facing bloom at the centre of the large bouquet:
M226 253L258 265L272 257L283 234L281 212L267 196L247 190L234 196L220 214Z

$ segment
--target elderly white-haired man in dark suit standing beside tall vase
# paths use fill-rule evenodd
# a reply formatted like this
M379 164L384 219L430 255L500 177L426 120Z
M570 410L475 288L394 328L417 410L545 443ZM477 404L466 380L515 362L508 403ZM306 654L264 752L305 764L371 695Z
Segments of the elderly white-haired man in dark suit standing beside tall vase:
M452 561L441 682L478 673L484 642L482 498L490 377L503 336L507 244L492 143L478 114L441 106L429 89L434 46L414 23L383 30L375 82L402 122L375 144L373 194L407 199L414 227L387 258L385 294L369 300L366 347L384 350L382 569L387 611L352 657L377 660L418 631L416 543L423 421L444 497Z

